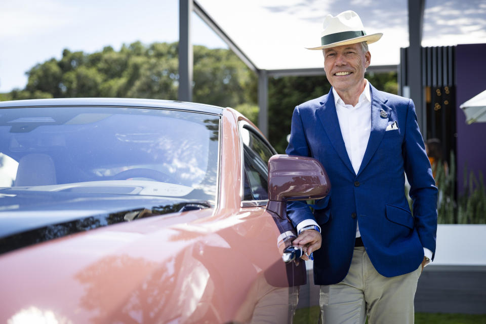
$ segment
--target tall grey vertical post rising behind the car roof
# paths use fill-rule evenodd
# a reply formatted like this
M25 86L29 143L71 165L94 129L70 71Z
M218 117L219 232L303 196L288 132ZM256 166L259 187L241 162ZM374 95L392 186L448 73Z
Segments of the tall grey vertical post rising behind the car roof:
M192 101L191 13L193 0L179 0L179 89L180 101Z

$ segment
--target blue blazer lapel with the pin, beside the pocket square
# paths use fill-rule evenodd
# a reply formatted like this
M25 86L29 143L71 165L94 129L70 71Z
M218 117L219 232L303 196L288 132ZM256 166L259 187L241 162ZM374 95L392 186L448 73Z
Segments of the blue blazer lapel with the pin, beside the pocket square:
M391 108L385 103L387 99L381 97L373 86L370 85L371 91L371 132L370 139L368 140L368 146L366 147L365 155L361 161L361 166L359 167L359 175L363 169L366 168L373 154L380 145L383 136L385 135L386 127L388 126L388 120L391 116ZM382 113L384 111L384 113ZM386 114L386 116L385 116Z

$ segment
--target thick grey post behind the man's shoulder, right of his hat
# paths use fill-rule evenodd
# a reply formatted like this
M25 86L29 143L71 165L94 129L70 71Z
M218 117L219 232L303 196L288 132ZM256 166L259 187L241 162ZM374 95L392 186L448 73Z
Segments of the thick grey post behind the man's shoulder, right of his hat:
M425 0L409 0L409 39L407 53L407 80L410 98L415 103L417 121L422 136L427 138L427 111L425 109L424 87L422 85L422 26Z

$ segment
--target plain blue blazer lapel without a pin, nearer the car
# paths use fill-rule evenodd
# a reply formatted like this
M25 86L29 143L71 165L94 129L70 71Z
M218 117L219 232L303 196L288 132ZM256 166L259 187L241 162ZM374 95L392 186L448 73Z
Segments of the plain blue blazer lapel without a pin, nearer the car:
M344 145L341 127L339 126L339 119L336 112L336 105L334 104L334 95L332 90L320 104L322 107L317 109L315 113L319 117L326 135L329 137L331 144L343 161L344 165L346 165L349 171L354 174L351 160L349 159L348 153L346 152L346 146Z

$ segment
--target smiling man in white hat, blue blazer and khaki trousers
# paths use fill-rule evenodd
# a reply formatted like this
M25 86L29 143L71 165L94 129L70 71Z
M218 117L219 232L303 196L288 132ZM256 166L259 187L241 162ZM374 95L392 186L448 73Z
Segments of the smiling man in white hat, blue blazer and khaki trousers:
M366 35L353 11L328 15L321 46L310 49L322 49L332 90L292 117L287 154L317 158L332 185L314 212L288 204L294 243L314 252L325 323L413 323L417 281L435 252L437 188L414 103L364 77L368 43L381 36Z

